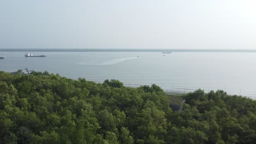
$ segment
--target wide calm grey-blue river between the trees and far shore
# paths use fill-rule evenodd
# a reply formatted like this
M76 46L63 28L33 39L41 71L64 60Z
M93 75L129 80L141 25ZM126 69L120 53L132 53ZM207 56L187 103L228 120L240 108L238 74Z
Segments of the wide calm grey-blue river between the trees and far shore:
M33 52L46 57L25 53L4 52L0 71L28 68L71 79L117 79L129 86L156 83L169 92L223 89L256 98L254 52Z

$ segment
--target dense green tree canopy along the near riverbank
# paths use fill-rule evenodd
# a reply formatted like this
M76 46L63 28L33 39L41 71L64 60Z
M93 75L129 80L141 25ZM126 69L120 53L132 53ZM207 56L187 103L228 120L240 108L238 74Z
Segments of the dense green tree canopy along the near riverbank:
M159 86L0 71L0 143L254 143L256 101L205 93L171 109Z

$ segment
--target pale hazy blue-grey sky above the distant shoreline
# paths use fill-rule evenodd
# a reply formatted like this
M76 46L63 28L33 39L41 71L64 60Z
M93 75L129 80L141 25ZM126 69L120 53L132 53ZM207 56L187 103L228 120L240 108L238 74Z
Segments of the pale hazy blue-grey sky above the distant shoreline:
M256 1L0 0L0 48L256 49Z

